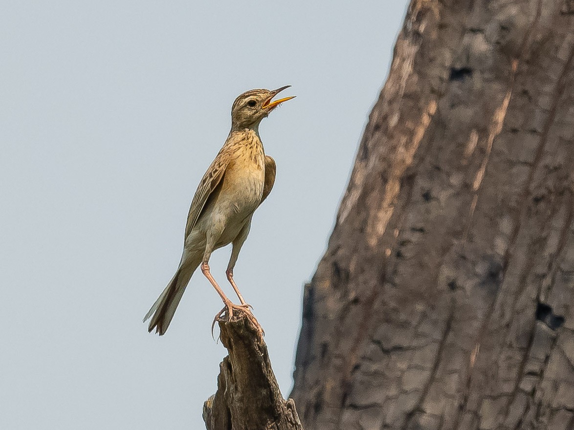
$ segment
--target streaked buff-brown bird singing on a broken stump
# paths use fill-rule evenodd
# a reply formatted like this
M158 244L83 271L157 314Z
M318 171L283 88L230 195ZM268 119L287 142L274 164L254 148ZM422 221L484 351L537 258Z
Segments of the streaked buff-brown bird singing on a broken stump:
M276 163L265 154L259 124L278 105L295 96L273 100L290 85L269 90L251 89L239 95L231 107L231 130L223 147L203 175L189 208L184 234L184 249L176 273L144 317L150 319L148 331L165 334L177 305L197 267L223 300L216 320L234 311L243 312L262 336L261 325L245 302L233 279L239 252L251 228L255 209L269 196L276 175ZM210 272L210 256L216 249L232 244L226 276L241 304L224 294Z

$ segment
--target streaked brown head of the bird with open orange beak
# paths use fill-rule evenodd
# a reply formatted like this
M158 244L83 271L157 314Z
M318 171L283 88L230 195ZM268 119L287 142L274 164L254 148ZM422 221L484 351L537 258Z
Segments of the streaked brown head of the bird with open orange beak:
M295 96L272 100L278 93L291 85L285 85L274 90L251 89L237 97L231 107L231 129L257 128L263 118L269 115L284 101L293 99Z

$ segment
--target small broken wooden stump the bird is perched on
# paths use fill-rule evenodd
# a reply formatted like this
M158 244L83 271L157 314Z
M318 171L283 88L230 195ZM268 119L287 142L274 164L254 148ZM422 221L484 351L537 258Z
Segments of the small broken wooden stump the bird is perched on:
M240 314L219 322L227 357L219 365L217 392L203 405L207 430L303 430L292 399L284 400L267 346Z

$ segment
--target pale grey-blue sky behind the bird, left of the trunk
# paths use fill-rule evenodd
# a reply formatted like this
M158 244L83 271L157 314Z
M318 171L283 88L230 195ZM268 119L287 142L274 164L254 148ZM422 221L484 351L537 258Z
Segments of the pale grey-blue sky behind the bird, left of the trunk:
M235 279L284 396L301 292L331 233L406 0L5 1L0 6L0 428L201 429L226 355L198 271L163 337L197 183L235 97L293 85L263 120L275 187ZM211 259L225 278L230 248Z

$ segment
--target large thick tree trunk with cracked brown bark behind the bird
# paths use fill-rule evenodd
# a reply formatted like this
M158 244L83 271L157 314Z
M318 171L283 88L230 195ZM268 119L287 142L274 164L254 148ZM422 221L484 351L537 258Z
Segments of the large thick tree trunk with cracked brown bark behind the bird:
M305 428L574 428L573 58L571 0L412 1L305 287Z

